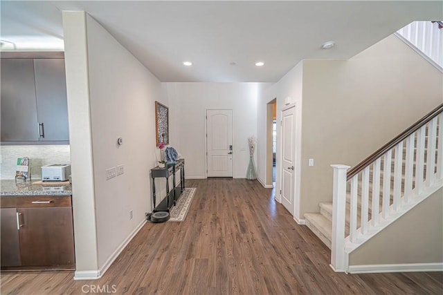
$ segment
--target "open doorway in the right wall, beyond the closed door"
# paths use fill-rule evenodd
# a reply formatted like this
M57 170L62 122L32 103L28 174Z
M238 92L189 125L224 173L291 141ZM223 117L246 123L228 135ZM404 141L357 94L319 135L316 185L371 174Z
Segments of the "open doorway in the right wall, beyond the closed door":
M266 187L275 188L277 145L277 99L266 106Z

